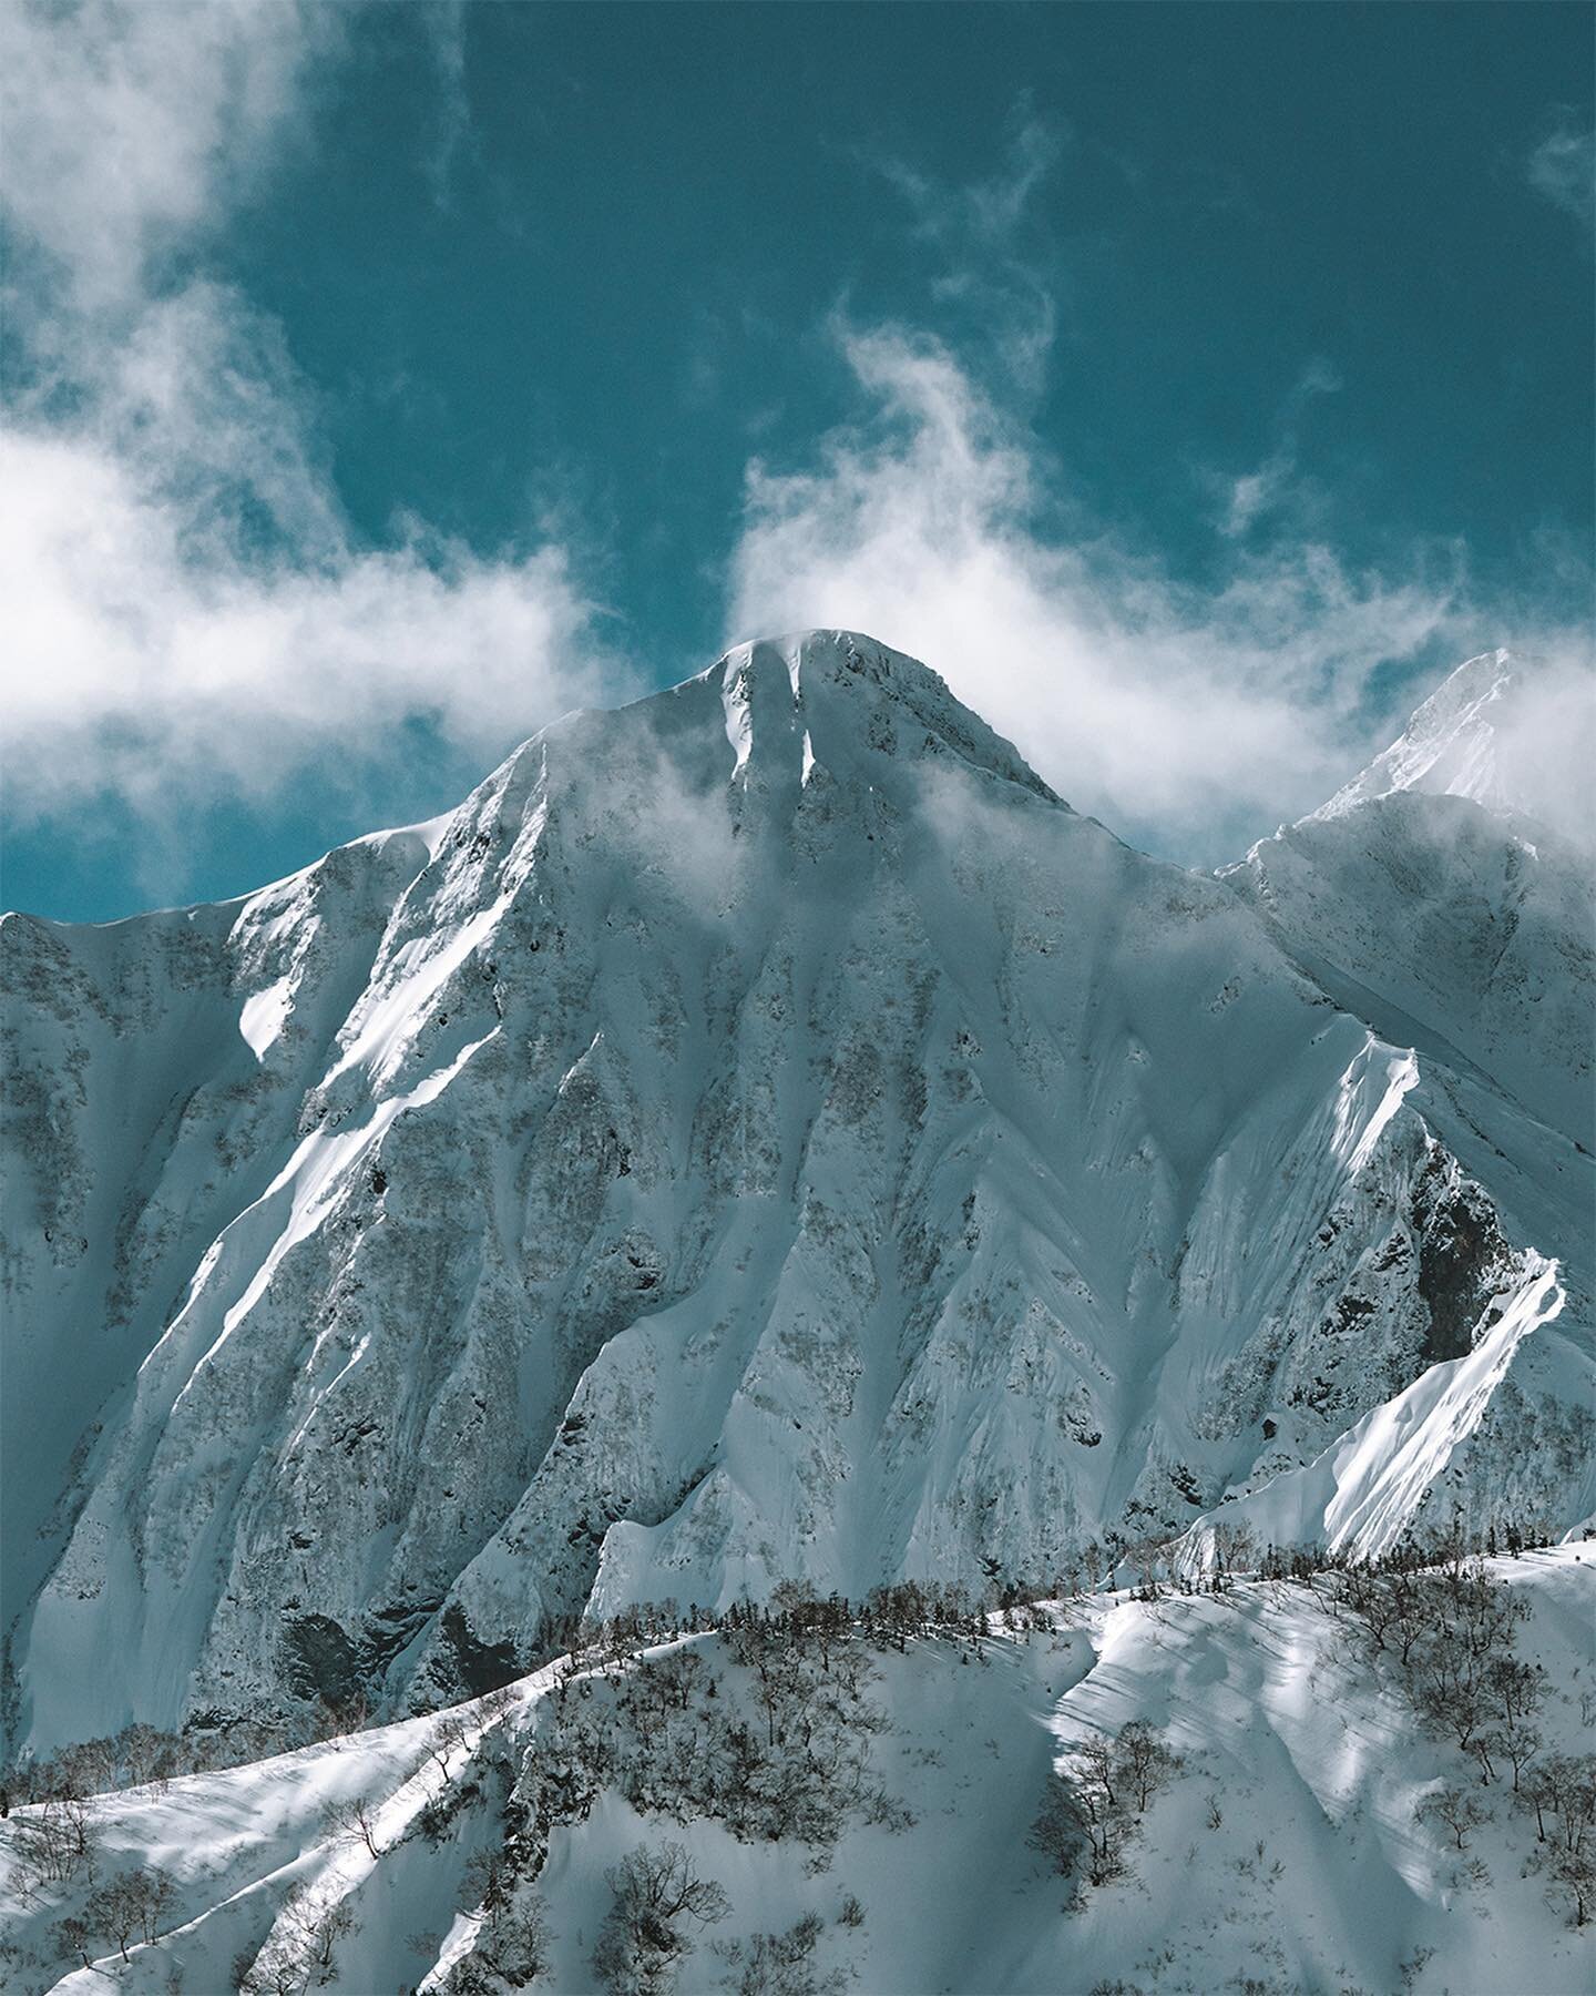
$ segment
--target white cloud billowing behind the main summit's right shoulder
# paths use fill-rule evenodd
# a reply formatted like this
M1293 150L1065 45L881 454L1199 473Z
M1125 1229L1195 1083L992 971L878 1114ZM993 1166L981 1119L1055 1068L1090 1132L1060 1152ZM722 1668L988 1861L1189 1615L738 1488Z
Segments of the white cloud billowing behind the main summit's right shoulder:
M1229 856L1373 747L1381 663L1474 637L1448 551L1393 579L1315 541L1235 547L1203 593L1099 533L1045 533L1025 433L944 347L844 343L878 421L818 469L750 469L728 637L842 625L916 653L1117 830Z

